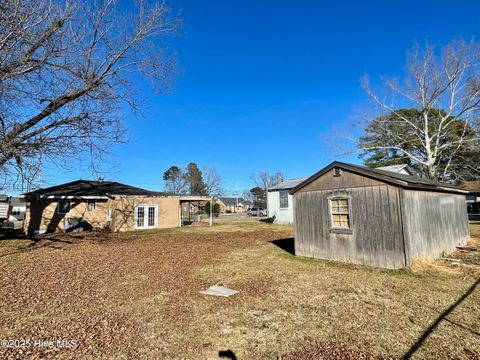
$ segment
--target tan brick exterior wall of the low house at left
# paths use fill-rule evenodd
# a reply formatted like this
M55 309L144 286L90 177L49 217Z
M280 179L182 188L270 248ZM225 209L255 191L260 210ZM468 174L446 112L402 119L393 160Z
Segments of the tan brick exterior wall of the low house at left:
M180 199L178 197L117 196L110 200L97 200L94 211L88 211L87 201L71 201L67 214L58 213L58 201L29 203L24 228L27 233L65 230L65 219L81 217L92 228L107 225L113 231L135 230L135 206L157 207L157 228L180 226Z

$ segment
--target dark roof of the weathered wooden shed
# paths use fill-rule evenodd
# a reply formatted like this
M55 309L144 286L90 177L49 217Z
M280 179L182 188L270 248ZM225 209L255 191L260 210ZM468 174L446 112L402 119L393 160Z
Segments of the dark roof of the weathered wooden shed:
M290 191L290 194L296 193L298 190L302 189L304 186L310 184L312 181L318 179L323 174L327 173L334 167L338 167L343 170L350 171L352 173L366 176L372 179L383 181L388 184L400 186L407 189L417 189L417 190L426 190L426 191L438 191L438 192L450 192L450 193L459 193L466 194L467 191L461 190L453 185L445 184L417 176L398 174L391 171L372 169L366 166L353 165L342 163L339 161L334 161L330 165L324 167L319 172L313 174L305 181L298 184L295 188Z

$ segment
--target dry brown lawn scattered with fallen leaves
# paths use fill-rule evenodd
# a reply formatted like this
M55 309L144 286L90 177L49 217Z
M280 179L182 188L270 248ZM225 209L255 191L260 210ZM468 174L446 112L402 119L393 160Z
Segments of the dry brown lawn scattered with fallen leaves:
M1 241L0 339L36 343L0 357L480 357L478 253L384 271L295 257L288 226L218 222ZM216 283L240 293L199 294Z

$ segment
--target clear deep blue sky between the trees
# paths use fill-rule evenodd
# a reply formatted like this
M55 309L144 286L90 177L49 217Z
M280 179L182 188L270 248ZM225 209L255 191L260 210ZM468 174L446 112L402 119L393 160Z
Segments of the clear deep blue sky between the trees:
M171 41L183 75L166 95L141 84L142 118L125 115L107 179L162 189L163 172L214 166L228 192L266 170L311 175L339 158L335 129L369 102L367 73L401 76L415 41L444 44L480 31L477 1L172 0L184 18ZM50 169L44 186L90 178Z

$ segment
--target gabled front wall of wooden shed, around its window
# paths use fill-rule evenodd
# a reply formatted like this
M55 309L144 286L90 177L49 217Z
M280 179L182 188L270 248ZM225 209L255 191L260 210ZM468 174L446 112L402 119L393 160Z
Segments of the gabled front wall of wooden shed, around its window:
M330 230L328 197L350 196L351 234ZM367 266L406 266L400 190L345 170L328 172L294 194L295 254Z

